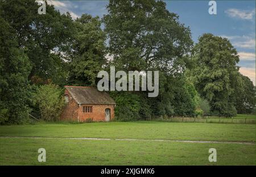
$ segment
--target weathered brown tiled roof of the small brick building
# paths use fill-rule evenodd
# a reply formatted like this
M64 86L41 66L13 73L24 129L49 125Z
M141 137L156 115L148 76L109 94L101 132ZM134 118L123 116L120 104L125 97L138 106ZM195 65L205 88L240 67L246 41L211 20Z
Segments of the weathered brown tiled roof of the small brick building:
M77 104L115 104L105 91L96 87L65 86Z

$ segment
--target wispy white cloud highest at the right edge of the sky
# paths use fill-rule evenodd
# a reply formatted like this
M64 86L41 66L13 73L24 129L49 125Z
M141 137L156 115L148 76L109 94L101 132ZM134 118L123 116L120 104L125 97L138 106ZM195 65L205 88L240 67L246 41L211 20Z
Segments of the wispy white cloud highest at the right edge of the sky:
M228 9L225 10L225 13L228 14L231 18L243 19L243 20L252 20L255 16L254 10L239 10L239 9Z

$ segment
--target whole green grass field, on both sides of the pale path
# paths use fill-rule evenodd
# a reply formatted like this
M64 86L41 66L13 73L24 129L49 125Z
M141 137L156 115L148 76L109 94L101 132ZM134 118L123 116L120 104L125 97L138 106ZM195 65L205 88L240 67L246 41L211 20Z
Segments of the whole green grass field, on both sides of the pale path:
M11 125L1 126L0 136L0 165L256 165L255 145L141 141L255 142L255 125L252 124L137 121ZM111 140L28 137L90 137ZM141 140L118 141L115 138ZM40 147L46 149L47 162L39 163L37 160ZM217 150L217 162L208 161L208 150L212 147Z

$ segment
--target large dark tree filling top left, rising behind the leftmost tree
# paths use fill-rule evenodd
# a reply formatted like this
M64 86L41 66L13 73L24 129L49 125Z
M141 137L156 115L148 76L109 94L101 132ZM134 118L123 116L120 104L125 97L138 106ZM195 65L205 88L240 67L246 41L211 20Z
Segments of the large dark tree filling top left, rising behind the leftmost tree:
M46 3L45 15L38 14L34 0L0 0L1 16L15 29L18 47L24 49L32 69L29 79L39 77L63 82L66 53L70 50L73 21L70 14L61 15Z

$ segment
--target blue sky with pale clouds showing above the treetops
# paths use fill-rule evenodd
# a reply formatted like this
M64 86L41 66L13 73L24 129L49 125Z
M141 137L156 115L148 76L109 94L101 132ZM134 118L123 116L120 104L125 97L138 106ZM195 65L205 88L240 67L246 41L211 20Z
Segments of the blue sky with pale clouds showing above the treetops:
M61 13L69 11L73 19L81 14L103 17L109 1L47 1ZM240 55L240 73L255 85L255 1L216 1L217 14L210 15L209 1L164 1L170 12L191 29L197 43L203 33L228 38Z

